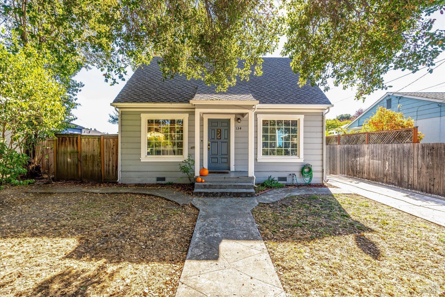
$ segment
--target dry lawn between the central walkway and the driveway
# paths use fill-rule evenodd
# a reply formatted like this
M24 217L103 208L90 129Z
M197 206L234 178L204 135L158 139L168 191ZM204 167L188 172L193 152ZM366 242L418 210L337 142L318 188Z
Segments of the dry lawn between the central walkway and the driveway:
M292 296L445 296L445 228L359 195L296 196L254 217Z

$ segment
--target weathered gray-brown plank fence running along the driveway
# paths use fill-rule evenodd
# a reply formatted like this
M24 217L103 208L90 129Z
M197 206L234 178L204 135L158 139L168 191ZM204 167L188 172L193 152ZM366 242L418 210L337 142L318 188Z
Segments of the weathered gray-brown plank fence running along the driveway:
M326 146L326 173L445 196L445 143Z

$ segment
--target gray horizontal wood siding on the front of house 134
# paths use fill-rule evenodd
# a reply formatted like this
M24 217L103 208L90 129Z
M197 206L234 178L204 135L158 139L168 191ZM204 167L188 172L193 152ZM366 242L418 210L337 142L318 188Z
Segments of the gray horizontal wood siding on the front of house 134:
M165 176L166 181L187 183L188 179L178 180L182 176L179 172L179 162L142 162L141 157L141 113L184 113L184 111L135 111L121 110L121 183L154 183L156 176ZM188 120L188 153L194 158L194 111L189 113ZM302 163L256 162L257 157L257 122L256 114L283 114L283 112L257 111L254 116L254 147L255 147L255 176L256 182L261 183L269 175L272 177L286 176L290 182L291 174L296 173L298 182L302 182L301 168L304 164L312 164L314 177L312 183L322 183L323 179L323 115L318 113L285 112L286 114L304 114ZM241 118L238 123L237 118ZM200 119L200 167L202 154L207 153L207 146L202 142L203 119ZM237 130L237 127L240 129ZM248 163L248 118L243 114L235 114L235 171L247 171Z

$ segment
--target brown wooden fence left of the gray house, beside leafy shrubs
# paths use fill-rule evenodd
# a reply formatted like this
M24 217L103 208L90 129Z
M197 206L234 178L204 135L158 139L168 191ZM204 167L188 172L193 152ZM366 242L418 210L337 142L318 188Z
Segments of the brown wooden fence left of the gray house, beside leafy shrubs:
M117 181L117 135L57 134L40 143L37 161L54 179Z

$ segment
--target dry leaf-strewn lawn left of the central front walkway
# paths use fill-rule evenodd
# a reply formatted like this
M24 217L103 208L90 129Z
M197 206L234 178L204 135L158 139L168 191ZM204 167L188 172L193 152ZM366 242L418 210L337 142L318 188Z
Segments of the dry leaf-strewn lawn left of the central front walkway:
M194 207L23 189L0 193L0 296L174 296Z

